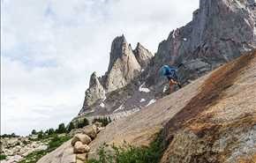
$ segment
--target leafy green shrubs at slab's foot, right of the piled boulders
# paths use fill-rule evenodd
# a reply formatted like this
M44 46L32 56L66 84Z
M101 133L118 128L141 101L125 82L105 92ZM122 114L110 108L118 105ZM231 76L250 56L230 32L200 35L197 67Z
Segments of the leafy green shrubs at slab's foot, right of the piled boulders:
M99 159L90 159L88 163L158 163L162 158L164 147L162 139L157 137L148 147L136 147L130 144L115 146L113 152L106 150L103 145L99 151Z

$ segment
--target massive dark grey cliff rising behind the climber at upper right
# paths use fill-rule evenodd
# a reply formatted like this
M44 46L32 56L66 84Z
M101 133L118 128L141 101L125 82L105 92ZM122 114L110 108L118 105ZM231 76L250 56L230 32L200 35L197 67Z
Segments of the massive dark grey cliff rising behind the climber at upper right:
M254 0L200 0L192 21L160 43L148 83L159 82L162 64L184 63L180 78L185 83L255 48L255 22Z

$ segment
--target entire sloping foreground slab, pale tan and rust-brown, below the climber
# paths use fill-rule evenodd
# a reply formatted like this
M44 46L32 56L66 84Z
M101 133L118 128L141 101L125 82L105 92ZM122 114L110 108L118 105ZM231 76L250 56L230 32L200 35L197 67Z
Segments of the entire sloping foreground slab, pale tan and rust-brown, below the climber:
M104 143L147 145L162 130L167 145L162 162L255 161L255 71L254 52L111 122L90 144L88 157Z

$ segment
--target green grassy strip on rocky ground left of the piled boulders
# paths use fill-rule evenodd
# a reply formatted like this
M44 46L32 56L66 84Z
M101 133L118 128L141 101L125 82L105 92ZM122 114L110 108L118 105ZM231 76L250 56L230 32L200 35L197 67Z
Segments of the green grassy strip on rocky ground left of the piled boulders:
M32 152L28 154L24 159L19 161L19 163L35 163L36 161L41 159L42 156L54 151L57 147L59 147L61 144L64 144L64 142L68 141L69 139L71 139L70 136L58 137L55 134L51 137L47 150Z

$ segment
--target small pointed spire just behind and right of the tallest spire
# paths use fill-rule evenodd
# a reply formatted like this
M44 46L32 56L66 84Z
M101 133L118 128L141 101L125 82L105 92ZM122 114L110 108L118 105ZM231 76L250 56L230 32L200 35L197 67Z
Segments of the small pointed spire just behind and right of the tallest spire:
M144 48L139 42L137 47L133 50L133 53L139 62L142 69L146 69L147 65L150 63L153 55L147 48Z

